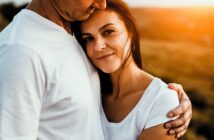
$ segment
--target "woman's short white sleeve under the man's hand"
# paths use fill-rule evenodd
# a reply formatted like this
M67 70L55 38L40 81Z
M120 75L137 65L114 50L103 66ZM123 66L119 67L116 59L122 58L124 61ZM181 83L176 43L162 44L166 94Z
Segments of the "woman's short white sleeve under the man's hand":
M164 87L160 92L158 93L159 97L157 97L150 110L144 129L175 119L168 118L167 113L179 105L177 93L167 87Z

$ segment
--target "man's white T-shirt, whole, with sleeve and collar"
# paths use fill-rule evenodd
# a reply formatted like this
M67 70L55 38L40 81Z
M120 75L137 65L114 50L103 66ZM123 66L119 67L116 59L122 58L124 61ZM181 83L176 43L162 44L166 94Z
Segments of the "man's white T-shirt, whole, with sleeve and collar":
M96 70L74 37L26 9L0 33L0 139L104 139Z

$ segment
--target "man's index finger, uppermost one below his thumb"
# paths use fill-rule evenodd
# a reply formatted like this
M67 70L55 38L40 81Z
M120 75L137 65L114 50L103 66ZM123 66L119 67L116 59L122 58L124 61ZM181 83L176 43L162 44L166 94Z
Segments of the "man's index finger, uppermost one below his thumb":
M191 108L191 103L189 99L184 99L181 101L180 105L178 105L175 109L171 110L169 113L167 113L167 116L169 118L181 115L188 111L188 109ZM191 110L190 110L191 111Z

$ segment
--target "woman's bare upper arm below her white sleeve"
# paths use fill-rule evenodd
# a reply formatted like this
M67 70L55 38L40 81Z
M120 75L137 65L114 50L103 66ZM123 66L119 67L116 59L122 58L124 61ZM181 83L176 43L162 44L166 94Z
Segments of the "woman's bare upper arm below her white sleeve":
M138 140L176 140L176 138L175 135L167 135L167 129L164 129L164 124L160 124L144 129Z

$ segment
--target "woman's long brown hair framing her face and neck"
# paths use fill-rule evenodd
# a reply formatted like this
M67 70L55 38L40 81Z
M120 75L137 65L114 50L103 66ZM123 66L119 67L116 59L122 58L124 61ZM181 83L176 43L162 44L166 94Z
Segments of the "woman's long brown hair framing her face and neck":
M118 14L119 18L125 23L127 31L131 35L131 51L130 55L132 55L134 62L136 65L142 69L142 61L140 54L140 34L139 29L137 28L136 20L132 16L128 5L123 0L107 0L107 7L105 10L113 11ZM76 36L78 42L85 50L85 44L81 38L81 21L72 23L71 27ZM128 58L127 58L128 59ZM126 59L126 60L127 60ZM126 61L124 61L124 64ZM101 92L102 93L112 93L113 87L110 79L110 75L102 72L98 69L100 81L101 81ZM119 81L119 79L118 79Z

